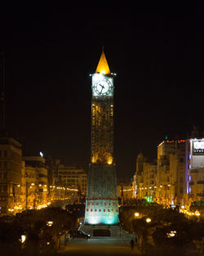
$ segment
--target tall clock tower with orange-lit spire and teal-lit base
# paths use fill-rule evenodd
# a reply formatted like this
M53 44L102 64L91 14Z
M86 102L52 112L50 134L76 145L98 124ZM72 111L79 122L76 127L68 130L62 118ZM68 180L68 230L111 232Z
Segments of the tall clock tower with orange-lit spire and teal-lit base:
M113 155L113 77L104 55L92 78L91 164L89 168L85 224L118 223L118 195Z

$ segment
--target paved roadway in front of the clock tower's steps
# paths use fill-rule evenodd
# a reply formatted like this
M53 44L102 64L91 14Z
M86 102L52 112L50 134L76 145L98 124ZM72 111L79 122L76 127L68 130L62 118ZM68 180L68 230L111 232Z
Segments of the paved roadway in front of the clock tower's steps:
M59 256L76 255L119 255L128 256L140 254L135 247L131 251L130 241L135 236L127 235L123 237L91 237L90 240L74 238L69 240L66 246L61 246Z

